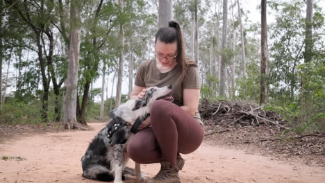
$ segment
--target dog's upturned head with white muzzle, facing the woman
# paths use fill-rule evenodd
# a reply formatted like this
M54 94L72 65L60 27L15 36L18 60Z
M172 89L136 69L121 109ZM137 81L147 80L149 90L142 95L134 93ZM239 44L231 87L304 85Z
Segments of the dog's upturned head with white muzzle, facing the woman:
M165 87L149 87L144 94L144 98L135 101L135 106L132 110L138 110L144 106L151 106L151 104L159 99L166 101L174 101L172 97L172 85Z

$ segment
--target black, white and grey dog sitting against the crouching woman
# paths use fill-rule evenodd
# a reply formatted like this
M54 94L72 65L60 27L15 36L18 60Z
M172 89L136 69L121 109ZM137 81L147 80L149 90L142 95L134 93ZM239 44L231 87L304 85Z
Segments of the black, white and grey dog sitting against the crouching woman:
M85 155L81 158L83 177L92 180L122 183L128 155L125 153L128 139L138 130L138 126L149 116L151 105L158 99L172 101L172 85L149 87L144 98L131 99L117 107L111 114L112 120L90 142ZM146 178L135 164L138 181Z

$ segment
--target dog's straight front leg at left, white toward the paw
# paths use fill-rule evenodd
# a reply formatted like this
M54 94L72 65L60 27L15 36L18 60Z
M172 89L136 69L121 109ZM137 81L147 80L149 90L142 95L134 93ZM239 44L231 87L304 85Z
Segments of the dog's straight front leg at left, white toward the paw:
M115 179L114 183L122 182L122 171L123 171L123 145L114 145L114 161L115 161Z

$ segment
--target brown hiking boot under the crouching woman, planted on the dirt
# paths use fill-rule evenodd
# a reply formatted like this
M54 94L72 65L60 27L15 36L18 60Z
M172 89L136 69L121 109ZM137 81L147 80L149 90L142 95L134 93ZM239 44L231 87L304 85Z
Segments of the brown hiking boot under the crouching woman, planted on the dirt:
M178 177L178 166L170 166L170 163L165 161L160 162L160 164L160 171L148 183L181 183ZM183 165L181 165L182 168Z

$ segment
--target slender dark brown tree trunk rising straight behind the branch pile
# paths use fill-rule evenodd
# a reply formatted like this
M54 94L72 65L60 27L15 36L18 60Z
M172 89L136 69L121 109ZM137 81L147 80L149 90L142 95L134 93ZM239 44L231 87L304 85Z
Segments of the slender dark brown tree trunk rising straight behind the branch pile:
M260 105L267 103L267 1L261 1Z

